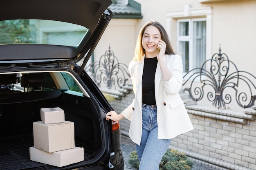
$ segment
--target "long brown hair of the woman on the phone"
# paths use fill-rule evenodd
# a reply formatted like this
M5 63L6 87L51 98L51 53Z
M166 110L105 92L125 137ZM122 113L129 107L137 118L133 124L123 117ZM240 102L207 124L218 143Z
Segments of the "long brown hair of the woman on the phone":
M160 31L161 38L166 43L165 54L175 54L175 52L173 51L173 47L171 46L171 42L169 40L168 34L165 31L165 29L162 26L162 24L160 24L157 21L148 21L140 29L139 36L138 36L138 39L137 39L137 44L135 46L135 53L134 53L134 57L133 57L132 61L139 61L139 62L141 62L142 57L146 53L145 49L143 48L143 46L141 44L141 41L142 41L142 36L144 34L144 31L145 31L146 27L150 26L150 25L153 25L153 26L157 27L157 29Z

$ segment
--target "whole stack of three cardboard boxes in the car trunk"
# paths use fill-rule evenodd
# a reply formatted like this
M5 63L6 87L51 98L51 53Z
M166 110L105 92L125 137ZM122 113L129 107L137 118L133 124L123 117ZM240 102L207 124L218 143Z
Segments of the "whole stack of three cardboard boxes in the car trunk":
M65 121L61 108L41 108L41 121L33 123L34 147L30 160L53 166L83 161L83 148L75 147L74 122Z

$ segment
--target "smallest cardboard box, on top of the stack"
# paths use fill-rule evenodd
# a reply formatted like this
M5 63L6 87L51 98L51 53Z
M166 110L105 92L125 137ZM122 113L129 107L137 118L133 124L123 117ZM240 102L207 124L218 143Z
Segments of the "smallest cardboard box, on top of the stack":
M58 124L65 121L65 114L61 108L41 108L41 120L45 124Z

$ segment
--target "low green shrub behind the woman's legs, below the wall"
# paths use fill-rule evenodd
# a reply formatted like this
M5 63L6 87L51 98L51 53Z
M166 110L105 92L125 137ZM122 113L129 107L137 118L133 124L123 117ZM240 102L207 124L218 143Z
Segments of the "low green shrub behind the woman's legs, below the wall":
M130 153L128 163L132 168L139 169L137 152ZM193 162L188 159L184 152L175 149L167 150L159 164L159 170L191 170Z

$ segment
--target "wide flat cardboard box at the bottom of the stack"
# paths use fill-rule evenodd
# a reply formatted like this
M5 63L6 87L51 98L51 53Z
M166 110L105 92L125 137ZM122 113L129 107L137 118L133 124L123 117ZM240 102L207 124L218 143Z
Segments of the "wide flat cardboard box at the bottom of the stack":
M79 147L52 153L30 147L29 155L31 161L46 163L58 167L67 166L84 160L83 148Z

